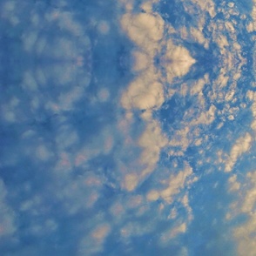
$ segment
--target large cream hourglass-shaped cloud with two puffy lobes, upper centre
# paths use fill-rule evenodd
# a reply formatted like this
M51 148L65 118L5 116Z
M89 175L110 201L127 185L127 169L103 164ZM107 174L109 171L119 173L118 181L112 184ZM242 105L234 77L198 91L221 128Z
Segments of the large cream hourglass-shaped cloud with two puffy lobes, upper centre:
M126 13L121 25L131 40L138 44L139 51L133 51L134 71L142 71L124 92L121 104L126 110L158 108L165 98L163 85L153 66L153 57L158 50L158 41L163 37L164 21L152 13Z

